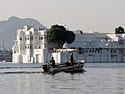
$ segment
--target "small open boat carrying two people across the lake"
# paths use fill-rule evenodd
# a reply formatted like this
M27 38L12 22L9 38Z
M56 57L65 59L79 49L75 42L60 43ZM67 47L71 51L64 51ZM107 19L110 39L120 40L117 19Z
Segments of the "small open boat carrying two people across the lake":
M58 73L58 72L83 72L83 66L85 62L78 61L74 62L73 64L70 62L65 62L65 63L60 63L60 64L55 64L55 66L52 66L49 63L43 64L43 72L47 73Z

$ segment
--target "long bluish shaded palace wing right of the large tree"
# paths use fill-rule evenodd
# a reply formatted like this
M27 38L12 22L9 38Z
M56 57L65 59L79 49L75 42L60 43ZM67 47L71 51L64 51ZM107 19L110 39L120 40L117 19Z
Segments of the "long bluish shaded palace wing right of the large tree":
M89 63L125 62L125 34L78 33L65 48L79 49L79 58Z

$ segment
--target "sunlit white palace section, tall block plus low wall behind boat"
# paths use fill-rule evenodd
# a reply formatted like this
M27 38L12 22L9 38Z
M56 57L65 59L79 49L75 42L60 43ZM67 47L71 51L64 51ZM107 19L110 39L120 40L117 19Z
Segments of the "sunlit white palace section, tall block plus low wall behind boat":
M24 26L17 30L17 39L12 47L13 63L45 63L54 57L57 63L69 61L72 49L50 49L47 29L37 30ZM74 50L74 53L76 51Z

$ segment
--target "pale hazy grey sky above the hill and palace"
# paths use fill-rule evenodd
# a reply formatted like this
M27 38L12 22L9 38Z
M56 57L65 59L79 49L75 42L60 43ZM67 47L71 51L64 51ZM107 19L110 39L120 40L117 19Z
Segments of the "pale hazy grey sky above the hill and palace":
M125 0L0 0L0 20L34 18L71 30L113 32L125 27Z

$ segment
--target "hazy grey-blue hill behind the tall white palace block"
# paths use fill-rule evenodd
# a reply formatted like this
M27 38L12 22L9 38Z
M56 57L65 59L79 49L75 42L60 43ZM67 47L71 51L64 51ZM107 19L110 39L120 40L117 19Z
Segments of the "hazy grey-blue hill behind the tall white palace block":
M0 48L11 48L16 39L17 29L23 26L34 26L35 28L45 28L40 22L32 18L10 17L8 20L0 21Z

